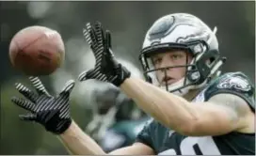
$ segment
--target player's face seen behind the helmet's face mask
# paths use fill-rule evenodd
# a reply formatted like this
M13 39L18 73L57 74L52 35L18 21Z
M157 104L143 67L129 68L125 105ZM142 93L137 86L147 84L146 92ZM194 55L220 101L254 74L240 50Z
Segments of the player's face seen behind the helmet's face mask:
M151 58L154 69L161 69L167 67L185 66L191 62L192 55L185 53L182 50L175 50L152 55ZM155 70L155 74L159 84L161 86L165 86L166 84L171 85L181 80L184 77L185 69L185 67L181 67ZM165 72L167 72L167 74Z

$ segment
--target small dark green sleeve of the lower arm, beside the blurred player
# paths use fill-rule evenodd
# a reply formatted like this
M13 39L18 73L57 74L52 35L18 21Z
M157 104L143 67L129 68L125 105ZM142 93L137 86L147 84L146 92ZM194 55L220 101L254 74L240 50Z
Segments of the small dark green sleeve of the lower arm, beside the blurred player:
M155 121L150 119L146 122L143 129L136 135L136 142L145 144L153 148L152 133L155 129Z

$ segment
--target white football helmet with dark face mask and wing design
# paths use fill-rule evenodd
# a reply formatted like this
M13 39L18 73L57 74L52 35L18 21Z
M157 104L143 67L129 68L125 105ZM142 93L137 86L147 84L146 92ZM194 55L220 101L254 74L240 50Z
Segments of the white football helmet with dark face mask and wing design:
M161 86L155 70L163 69L153 67L151 56L170 49L184 49L193 55L193 59L184 66L186 72L183 79ZM139 60L147 81L183 96L190 89L205 86L219 72L226 58L219 55L216 28L212 31L207 24L191 14L174 13L161 17L152 24L144 39ZM169 68L178 67L165 69Z

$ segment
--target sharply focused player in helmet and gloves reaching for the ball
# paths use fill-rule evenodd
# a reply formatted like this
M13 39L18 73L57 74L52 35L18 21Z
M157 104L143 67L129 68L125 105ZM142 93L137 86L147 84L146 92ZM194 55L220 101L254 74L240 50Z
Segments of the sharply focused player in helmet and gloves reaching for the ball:
M94 69L80 81L112 83L152 116L132 146L115 155L254 155L254 86L242 72L219 74L216 29L198 17L175 13L161 17L146 34L140 61L148 82L131 77L111 51L110 32L101 23L87 24L85 37L95 55ZM30 77L33 93L17 84L30 100L12 99L31 113L21 116L56 133L72 154L106 154L70 116L70 81L56 97L39 78Z

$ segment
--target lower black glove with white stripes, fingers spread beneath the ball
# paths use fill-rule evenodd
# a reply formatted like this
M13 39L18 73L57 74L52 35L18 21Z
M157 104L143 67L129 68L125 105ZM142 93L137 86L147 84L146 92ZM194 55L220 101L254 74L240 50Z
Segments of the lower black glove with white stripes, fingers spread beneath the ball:
M67 82L62 91L56 97L53 97L47 92L38 77L29 77L29 80L37 93L20 83L15 84L26 100L12 97L11 101L30 112L19 117L22 120L40 123L48 132L64 133L72 123L69 99L74 81Z

